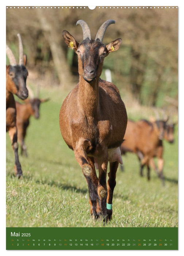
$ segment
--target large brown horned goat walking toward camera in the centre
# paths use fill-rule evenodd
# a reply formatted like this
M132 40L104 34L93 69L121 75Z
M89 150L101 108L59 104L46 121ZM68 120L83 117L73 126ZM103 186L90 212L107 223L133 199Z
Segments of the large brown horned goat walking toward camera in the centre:
M118 50L122 43L118 38L106 46L103 44L104 33L112 23L115 21L104 22L93 40L87 23L78 20L77 25L83 30L81 43L68 31L62 32L66 44L78 55L79 83L61 106L61 134L74 151L87 181L91 215L93 219L102 215L104 222L112 217L116 171L119 162L122 163L120 145L127 125L127 113L119 90L113 83L100 79L104 58ZM110 172L106 184L108 162Z

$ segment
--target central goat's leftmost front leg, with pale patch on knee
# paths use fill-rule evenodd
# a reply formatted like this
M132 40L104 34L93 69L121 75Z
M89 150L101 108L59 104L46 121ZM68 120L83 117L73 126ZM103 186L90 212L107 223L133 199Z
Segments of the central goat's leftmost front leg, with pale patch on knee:
M98 178L96 176L95 164L93 158L87 157L86 149L88 147L87 141L80 141L76 143L74 154L77 162L82 168L84 177L89 189L89 203L91 206L91 215L93 219L97 219L101 215L99 200L97 196Z

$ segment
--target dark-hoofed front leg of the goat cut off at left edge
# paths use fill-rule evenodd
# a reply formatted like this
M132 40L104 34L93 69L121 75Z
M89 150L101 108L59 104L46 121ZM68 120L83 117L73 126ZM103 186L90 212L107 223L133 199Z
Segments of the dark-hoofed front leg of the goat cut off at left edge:
M17 128L16 126L14 127L10 127L8 129L8 133L9 133L9 137L11 139L12 142L12 148L14 150L14 155L15 155L15 176L18 176L18 178L20 178L20 176L22 176L22 168L19 162L19 156L18 156L18 143L17 143Z

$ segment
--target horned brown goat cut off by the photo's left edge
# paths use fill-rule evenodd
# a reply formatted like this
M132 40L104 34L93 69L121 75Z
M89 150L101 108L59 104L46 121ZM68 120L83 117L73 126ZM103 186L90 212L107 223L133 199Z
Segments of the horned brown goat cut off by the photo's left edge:
M20 34L19 39L19 64L16 64L14 54L6 45L6 54L10 65L6 66L6 131L12 142L12 148L15 155L15 175L20 178L22 176L22 168L18 157L18 143L17 143L17 128L16 128L16 107L14 95L20 99L28 97L28 90L26 88L26 79L28 76L26 65L26 55L23 54L23 45Z

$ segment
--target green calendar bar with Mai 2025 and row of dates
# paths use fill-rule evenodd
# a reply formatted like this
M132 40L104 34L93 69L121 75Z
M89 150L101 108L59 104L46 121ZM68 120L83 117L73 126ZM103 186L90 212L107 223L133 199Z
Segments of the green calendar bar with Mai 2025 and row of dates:
M7 227L7 250L177 250L177 227Z

